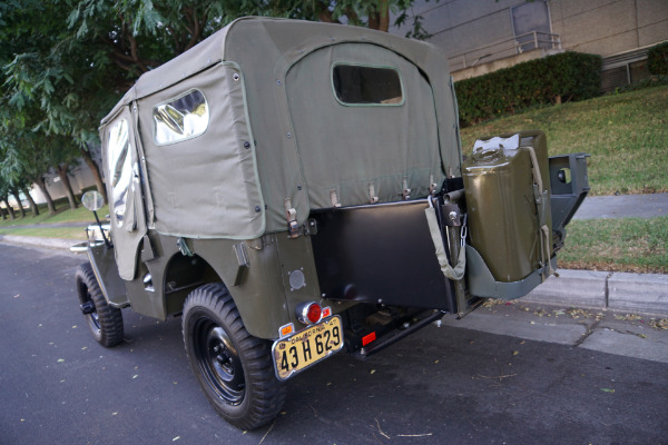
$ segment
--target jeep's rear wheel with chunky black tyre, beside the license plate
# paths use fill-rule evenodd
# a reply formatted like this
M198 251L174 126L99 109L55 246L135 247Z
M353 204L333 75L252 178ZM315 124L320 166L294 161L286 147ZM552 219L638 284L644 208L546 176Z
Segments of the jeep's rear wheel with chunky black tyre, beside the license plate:
M184 305L184 343L209 403L232 425L257 428L276 417L285 387L266 340L253 337L222 284L202 286Z

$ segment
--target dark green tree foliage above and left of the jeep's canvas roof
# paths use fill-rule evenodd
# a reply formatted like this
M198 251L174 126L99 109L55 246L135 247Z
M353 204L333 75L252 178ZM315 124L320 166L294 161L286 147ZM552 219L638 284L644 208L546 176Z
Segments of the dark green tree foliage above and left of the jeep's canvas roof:
M99 145L97 127L144 72L242 16L387 30L414 0L10 0L0 2L0 179L35 181ZM436 0L438 1L438 0ZM424 38L420 16L413 37Z

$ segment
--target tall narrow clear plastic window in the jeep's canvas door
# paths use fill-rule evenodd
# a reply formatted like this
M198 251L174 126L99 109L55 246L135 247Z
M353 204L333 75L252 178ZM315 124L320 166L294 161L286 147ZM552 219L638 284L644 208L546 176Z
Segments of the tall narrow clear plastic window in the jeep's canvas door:
M108 166L111 181L111 211L116 215L118 227L122 226L130 180L132 177L132 156L128 121L121 119L109 130Z

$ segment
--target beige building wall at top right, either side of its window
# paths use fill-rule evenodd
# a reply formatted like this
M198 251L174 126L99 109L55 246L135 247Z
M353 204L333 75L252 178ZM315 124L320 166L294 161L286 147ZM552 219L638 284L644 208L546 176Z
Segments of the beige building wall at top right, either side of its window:
M540 1L540 0L536 0ZM422 16L430 42L451 58L461 52L511 39L510 8L524 0L416 0L413 16ZM611 56L668 40L668 0L550 0L552 32L562 48ZM409 26L411 24L409 20ZM391 32L405 34L407 26ZM493 48L492 48L493 50ZM484 56L490 49L481 51ZM513 56L500 52L494 58ZM485 62L492 58L482 59ZM459 60L451 60L459 69Z

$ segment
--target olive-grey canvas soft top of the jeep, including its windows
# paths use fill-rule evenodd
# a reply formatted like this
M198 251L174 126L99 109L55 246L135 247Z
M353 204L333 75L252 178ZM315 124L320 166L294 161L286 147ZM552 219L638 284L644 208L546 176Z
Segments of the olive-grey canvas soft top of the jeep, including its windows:
M358 27L244 18L143 75L101 122L108 177L124 119L145 209L122 210L168 235L254 238L461 176L442 51Z

